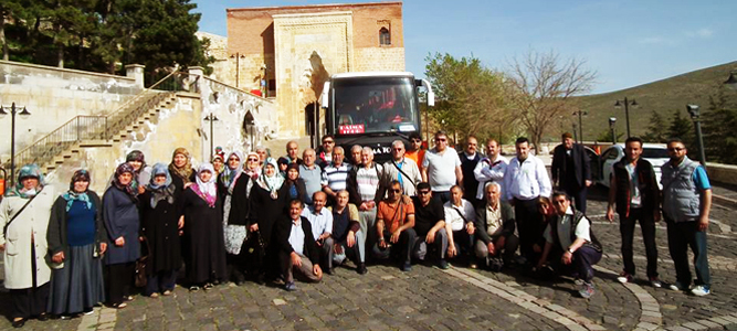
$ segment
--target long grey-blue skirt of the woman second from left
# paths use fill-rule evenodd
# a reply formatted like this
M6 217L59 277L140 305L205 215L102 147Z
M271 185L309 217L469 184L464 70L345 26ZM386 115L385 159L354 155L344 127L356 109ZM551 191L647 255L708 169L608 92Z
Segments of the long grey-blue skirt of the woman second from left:
M73 314L105 301L103 264L93 257L95 244L71 246L64 267L51 274L49 312Z

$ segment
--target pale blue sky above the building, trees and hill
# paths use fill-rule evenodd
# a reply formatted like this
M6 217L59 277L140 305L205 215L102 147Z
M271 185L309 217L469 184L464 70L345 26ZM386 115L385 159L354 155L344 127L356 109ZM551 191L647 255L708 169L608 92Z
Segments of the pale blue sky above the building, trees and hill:
M227 8L369 1L192 2L200 30L227 36ZM406 66L424 77L428 55L449 53L507 71L530 51L555 52L585 61L597 73L591 93L606 93L737 61L735 13L734 0L407 0Z

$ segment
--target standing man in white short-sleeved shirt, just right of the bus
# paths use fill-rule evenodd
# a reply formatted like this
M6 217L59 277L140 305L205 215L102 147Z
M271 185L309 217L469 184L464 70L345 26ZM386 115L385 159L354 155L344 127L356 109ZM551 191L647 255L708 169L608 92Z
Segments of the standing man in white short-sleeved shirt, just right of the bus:
M435 134L435 147L424 153L422 181L430 183L432 195L442 203L451 200L451 188L463 186L463 170L457 151L448 146L448 134Z

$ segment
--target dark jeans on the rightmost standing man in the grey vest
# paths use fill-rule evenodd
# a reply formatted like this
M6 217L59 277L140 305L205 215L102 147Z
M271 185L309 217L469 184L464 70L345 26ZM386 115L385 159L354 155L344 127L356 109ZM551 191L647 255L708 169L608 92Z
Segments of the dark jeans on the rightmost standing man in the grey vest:
M712 285L707 257L706 231L698 231L698 222L667 222L667 248L675 265L675 279L687 287L691 285L688 247L694 253L696 285Z

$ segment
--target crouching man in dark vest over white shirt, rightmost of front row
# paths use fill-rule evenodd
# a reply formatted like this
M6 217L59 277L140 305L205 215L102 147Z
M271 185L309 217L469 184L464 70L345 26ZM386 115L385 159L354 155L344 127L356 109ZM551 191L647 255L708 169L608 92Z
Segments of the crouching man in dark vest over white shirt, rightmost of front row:
M541 268L547 261L550 252L562 252L550 258L556 271L572 274L577 280L582 280L579 295L589 298L593 295L593 265L601 260L601 244L591 231L591 221L580 211L570 207L570 199L565 192L556 192L551 199L556 210L556 217L545 228L545 248L537 263Z

